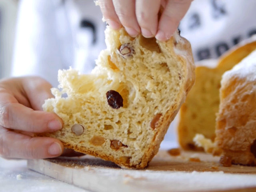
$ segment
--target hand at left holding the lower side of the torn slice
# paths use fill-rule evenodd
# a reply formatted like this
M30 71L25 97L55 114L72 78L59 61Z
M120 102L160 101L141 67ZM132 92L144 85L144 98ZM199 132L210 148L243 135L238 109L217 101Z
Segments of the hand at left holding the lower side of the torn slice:
M52 158L60 156L60 140L33 137L34 133L62 128L54 113L43 112L52 86L38 77L0 80L0 156L4 158Z

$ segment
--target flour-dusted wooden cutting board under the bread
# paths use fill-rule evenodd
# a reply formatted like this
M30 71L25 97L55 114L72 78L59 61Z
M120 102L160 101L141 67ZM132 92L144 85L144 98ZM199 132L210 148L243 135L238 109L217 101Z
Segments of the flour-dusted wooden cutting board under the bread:
M92 156L28 160L28 168L95 192L256 191L256 167L223 167L218 160L204 153L160 151L144 170L121 169Z

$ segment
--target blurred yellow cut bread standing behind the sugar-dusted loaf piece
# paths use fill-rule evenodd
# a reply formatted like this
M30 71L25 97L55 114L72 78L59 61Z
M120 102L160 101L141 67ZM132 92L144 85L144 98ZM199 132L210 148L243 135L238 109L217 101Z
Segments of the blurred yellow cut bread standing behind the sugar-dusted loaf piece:
M215 66L209 60L196 66L195 84L180 109L178 141L182 148L203 150L193 141L196 134L202 134L205 138L214 141L222 75L248 56L255 48L256 40L251 38L224 54Z

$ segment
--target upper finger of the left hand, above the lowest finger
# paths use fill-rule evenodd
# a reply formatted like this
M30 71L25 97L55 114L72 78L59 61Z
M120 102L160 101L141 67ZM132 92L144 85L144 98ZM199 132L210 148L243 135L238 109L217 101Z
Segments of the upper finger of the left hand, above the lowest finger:
M62 120L54 113L34 111L19 103L0 107L0 126L26 132L48 132L62 128Z

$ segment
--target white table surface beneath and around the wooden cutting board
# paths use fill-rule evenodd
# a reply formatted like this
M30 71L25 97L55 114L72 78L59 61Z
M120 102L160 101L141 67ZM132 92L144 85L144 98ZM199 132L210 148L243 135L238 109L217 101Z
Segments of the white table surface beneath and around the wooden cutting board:
M161 148L176 147L176 142L162 142ZM88 192L27 168L27 160L0 157L0 192Z

